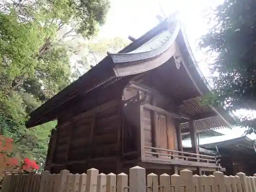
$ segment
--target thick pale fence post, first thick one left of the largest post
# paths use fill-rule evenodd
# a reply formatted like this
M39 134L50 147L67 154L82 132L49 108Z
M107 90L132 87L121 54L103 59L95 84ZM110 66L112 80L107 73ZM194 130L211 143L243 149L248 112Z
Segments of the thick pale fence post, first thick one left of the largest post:
M98 169L91 168L87 170L86 192L96 192L98 174Z

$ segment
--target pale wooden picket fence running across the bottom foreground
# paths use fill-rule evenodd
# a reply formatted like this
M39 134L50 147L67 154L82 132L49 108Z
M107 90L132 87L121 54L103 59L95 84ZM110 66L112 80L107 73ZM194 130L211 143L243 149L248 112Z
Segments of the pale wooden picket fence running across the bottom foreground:
M149 174L139 166L130 168L126 174L99 174L95 168L87 174L7 174L1 192L255 192L256 175L247 177L244 173L224 176L215 172L210 176L193 175L184 169L180 175L169 176Z

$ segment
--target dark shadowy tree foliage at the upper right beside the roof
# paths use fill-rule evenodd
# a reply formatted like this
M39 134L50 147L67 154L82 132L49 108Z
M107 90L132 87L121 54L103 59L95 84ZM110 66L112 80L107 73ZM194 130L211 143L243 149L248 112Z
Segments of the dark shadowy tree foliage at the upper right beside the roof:
M252 0L225 0L213 11L214 27L201 38L201 48L217 53L209 65L214 93L207 99L229 111L256 109L255 8ZM251 116L238 119L238 125L256 133Z

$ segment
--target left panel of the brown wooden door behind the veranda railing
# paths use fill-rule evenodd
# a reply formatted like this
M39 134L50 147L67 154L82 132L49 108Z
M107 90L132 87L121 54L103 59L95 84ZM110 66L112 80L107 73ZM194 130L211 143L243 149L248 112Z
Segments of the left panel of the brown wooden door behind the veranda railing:
M166 115L158 114L158 148L163 148L165 150L168 149L168 142L167 142L167 118ZM165 151L160 151L162 154L167 154ZM160 157L166 157L167 156L160 156Z

